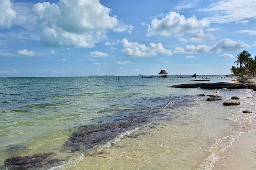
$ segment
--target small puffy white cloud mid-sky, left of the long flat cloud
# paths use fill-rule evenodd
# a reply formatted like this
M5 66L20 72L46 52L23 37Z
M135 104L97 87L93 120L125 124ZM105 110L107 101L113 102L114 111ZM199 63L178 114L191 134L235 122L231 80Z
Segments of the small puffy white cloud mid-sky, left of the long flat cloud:
M150 47L146 47L145 44L139 44L138 42L130 42L128 39L124 38L122 40L124 54L134 57L152 57L157 55L157 53L163 53L165 55L172 55L171 50L166 50L161 43L150 43Z

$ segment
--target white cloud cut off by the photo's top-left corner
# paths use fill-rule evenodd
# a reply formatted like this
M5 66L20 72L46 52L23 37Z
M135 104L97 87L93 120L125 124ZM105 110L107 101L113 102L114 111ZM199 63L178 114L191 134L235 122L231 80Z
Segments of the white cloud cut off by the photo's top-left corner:
M0 0L0 28L11 28L11 22L16 17L10 0Z

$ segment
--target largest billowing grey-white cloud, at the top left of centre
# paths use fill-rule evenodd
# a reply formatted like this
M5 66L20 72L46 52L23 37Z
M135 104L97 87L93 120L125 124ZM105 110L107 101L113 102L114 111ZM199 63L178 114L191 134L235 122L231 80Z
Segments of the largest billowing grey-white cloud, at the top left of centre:
M59 0L57 4L38 2L33 6L36 29L44 46L74 46L91 48L107 38L107 31L131 33L111 9L99 0Z

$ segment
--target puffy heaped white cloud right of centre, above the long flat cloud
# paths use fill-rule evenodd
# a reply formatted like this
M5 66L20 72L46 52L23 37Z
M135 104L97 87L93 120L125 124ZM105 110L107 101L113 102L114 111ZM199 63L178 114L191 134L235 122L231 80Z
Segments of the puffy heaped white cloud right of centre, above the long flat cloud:
M209 26L210 22L207 19L198 20L195 16L185 18L176 12L170 12L168 15L158 20L155 18L148 25L147 36L161 35L169 37L172 34L194 33L200 28Z

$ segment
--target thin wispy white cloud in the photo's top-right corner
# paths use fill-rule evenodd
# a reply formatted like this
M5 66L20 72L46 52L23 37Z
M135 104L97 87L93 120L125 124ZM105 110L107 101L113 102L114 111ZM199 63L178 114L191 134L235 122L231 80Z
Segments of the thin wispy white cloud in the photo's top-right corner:
M200 9L211 13L208 19L214 23L247 23L249 19L256 19L255 0L225 0L213 1L209 7Z

